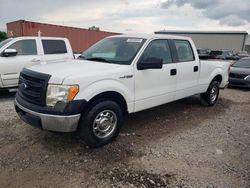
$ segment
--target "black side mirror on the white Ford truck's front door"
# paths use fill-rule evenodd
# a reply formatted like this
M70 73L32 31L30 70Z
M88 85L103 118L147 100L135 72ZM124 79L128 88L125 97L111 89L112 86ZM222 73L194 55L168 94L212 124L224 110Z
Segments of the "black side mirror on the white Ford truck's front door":
M139 61L137 63L138 70L145 69L161 69L163 65L163 60L160 58L150 57L145 60Z

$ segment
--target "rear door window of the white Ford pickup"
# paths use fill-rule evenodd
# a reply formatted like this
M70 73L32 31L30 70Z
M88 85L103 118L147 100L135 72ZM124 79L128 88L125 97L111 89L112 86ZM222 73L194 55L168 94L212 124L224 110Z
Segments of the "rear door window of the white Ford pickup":
M179 62L194 61L192 47L187 40L174 40Z

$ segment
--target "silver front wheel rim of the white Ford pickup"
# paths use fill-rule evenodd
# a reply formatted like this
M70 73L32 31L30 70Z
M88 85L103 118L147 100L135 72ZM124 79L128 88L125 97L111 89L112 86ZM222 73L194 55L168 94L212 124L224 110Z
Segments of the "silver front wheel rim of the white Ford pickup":
M93 132L96 137L103 139L114 132L116 125L116 114L112 110L104 110L95 117L93 122Z

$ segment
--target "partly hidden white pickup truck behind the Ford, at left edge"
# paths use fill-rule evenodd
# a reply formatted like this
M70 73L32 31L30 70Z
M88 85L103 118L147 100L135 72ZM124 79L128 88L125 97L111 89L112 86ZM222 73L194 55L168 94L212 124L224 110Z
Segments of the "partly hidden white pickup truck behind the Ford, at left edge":
M17 37L0 43L0 89L18 86L24 67L73 59L69 40L57 37Z

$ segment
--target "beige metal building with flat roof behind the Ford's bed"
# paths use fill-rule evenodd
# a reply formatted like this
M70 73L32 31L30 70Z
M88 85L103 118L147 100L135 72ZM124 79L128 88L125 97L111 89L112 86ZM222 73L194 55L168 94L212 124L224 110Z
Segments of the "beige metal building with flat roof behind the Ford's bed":
M170 34L191 37L197 48L214 50L230 49L234 52L245 49L246 31L156 31L156 34Z

